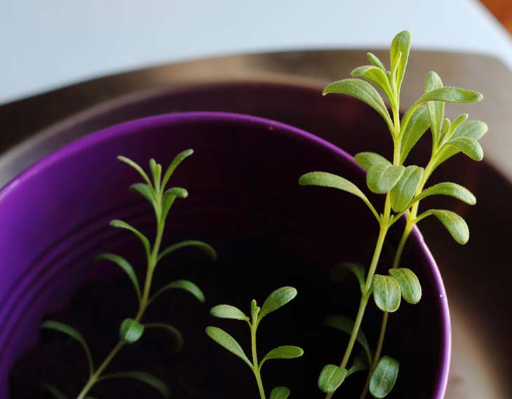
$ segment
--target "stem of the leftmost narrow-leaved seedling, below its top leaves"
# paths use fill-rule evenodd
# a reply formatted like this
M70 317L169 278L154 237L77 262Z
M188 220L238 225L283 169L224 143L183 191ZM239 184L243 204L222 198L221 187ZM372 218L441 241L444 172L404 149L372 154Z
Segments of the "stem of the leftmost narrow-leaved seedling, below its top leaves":
M158 201L159 209L161 209L161 201ZM151 250L151 254L149 255L147 259L147 272L146 272L146 279L144 283L144 291L142 292L142 298L140 299L139 309L137 311L137 315L135 316L135 321L139 322L142 320L142 317L144 316L144 313L146 312L147 306L149 305L149 294L151 293L151 282L153 280L153 272L156 266L156 263L158 261L158 256L160 252L160 245L162 241L163 231L165 229L166 223L165 220L161 220L161 212L157 212L156 215L156 238L154 241L153 249ZM86 398L86 395L89 393L90 389L93 388L93 386L101 380L101 374L105 371L105 369L108 367L108 365L112 362L114 357L116 356L121 349L126 345L126 342L122 339L119 339L116 346L114 346L114 349L110 351L110 353L107 355L105 360L101 363L101 365L93 372L93 374L90 375L87 383L85 386L83 386L82 390L80 391L79 395L76 397L76 399L84 399Z

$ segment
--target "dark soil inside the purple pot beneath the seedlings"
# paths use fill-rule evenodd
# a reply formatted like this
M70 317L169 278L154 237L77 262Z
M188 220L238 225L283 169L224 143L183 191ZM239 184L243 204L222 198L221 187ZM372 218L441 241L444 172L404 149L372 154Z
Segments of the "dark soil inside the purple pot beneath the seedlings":
M134 243L135 244L135 243ZM365 258L371 256L372 242L368 243ZM254 245L254 244L252 244ZM166 332L147 330L140 341L128 346L114 360L109 370L144 370L154 373L170 387L173 398L257 398L257 388L249 368L241 360L217 346L205 334L207 325L217 325L231 333L244 349L249 349L248 326L241 321L219 320L208 311L215 304L234 304L248 312L250 299L262 304L264 298L283 285L297 288L299 295L280 311L269 316L258 330L258 349L264 356L270 349L282 344L301 346L305 353L297 360L272 360L262 372L267 394L274 386L292 389L292 398L323 398L316 388L318 372L326 363L338 363L348 336L323 326L325 316L353 315L358 298L357 283L346 276L335 283L330 276L331 264L316 264L297 259L293 254L278 251L278 245L262 245L260 252L243 248L220 254L220 260L196 260L191 250L180 258L167 259L159 266L156 285L185 278L194 281L206 293L206 304L200 304L186 292L168 292L155 302L144 318L175 325L184 336L184 348L175 353L175 341ZM223 256L227 255L227 257ZM382 264L389 263L384 257ZM95 267L113 268L110 264ZM160 284L159 284L160 283ZM128 278L115 273L107 278L95 278L76 292L69 306L48 315L48 318L69 323L86 337L96 362L102 360L115 344L118 326L123 318L136 310L133 287ZM370 304L364 330L374 342L380 321L379 311ZM422 325L421 309L400 308L393 318L387 350L402 360L398 384L391 398L404 398L414 390L415 398L429 398L429 380L426 386L408 386L410 373L417 370L417 358L429 351L421 337L429 326ZM407 325L407 334L398 326ZM416 332L414 331L416 330ZM357 350L356 350L357 353ZM435 364L425 365L436 367ZM39 345L29 351L11 373L13 399L46 398L41 392L41 381L48 381L74 397L84 384L88 373L81 347L67 336L43 331ZM433 376L433 373L431 373ZM339 395L358 397L364 384L365 372L347 379ZM433 384L432 381L430 381ZM409 393L407 395L406 393ZM137 381L123 379L104 381L95 386L95 398L161 398L153 388Z

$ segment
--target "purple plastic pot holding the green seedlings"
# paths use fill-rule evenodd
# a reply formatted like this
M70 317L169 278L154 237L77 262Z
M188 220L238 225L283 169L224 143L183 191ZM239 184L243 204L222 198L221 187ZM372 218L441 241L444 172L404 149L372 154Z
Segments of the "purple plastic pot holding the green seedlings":
M13 363L36 344L43 316L65 306L84 281L101 276L105 269L91 267L98 253L126 245L109 219L142 229L150 223L147 208L127 189L137 175L116 156L144 165L154 157L166 165L186 148L195 154L173 177L173 185L191 194L171 216L177 237L209 241L220 257L277 251L318 264L361 259L373 245L375 220L358 198L297 184L303 173L327 170L363 187L363 171L341 149L297 128L252 116L188 113L89 135L0 191L0 399L8 398ZM398 233L391 232L392 245ZM404 261L417 271L424 295L414 309L400 308L399 323L391 318L401 329L391 327L386 349L393 345L401 354L399 384L407 397L441 399L450 318L438 268L417 230ZM369 311L372 316L379 313ZM407 363L410 353L416 360Z

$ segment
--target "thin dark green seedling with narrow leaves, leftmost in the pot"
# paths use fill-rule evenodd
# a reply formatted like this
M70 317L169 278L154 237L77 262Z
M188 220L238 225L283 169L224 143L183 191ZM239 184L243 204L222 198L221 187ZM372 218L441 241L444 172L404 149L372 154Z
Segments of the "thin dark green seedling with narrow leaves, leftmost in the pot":
M215 254L215 250L210 245L203 243L202 241L182 241L181 243L170 245L170 247L165 248L163 250L161 249L163 231L166 226L166 218L168 216L170 208L173 206L173 203L175 202L176 198L187 198L188 196L187 190L182 189L180 187L173 187L167 189L167 184L169 182L171 175L173 175L174 170L177 168L177 165L179 165L185 158L187 158L191 154L193 154L193 151L191 149L188 149L178 154L170 163L164 175L162 175L162 166L159 163L156 163L154 159L151 159L151 161L149 161L151 179L144 172L144 170L142 170L140 165L137 165L137 163L135 163L134 161L131 161L130 159L123 156L118 157L119 161L127 163L132 168L137 170L137 172L142 176L142 179L144 180L144 183L133 184L131 188L140 193L151 204L156 217L156 236L154 238L154 242L151 244L149 242L149 238L147 238L146 236L144 236L144 234L135 229L135 227L130 226L130 224L123 222L122 220L112 220L112 222L110 222L111 226L116 227L118 229L126 229L131 233L135 234L135 236L137 236L137 238L142 243L142 246L144 247L144 252L147 260L147 269L144 283L141 288L139 280L137 279L137 275L135 274L135 270L133 269L133 266L126 259L120 257L119 255L114 255L111 253L103 254L97 257L98 260L106 260L116 264L117 266L121 267L123 271L126 272L128 278L130 278L130 281L133 284L133 288L135 290L135 295L137 295L138 302L137 313L133 318L126 318L125 320L123 320L123 323L121 323L121 326L119 327L119 342L116 344L116 346L114 346L114 349L112 349L112 351L107 355L105 360L103 360L98 367L95 367L86 340L83 339L80 332L75 330L73 327L70 327L69 325L65 325L55 321L46 321L41 326L43 328L57 330L59 332L69 335L70 337L78 341L79 344L83 347L84 351L86 352L86 357L89 365L88 380L81 389L80 393L76 396L76 399L88 398L88 393L90 389L93 388L93 386L95 386L97 382L105 381L107 379L118 378L137 379L139 381L143 381L145 384L148 384L149 386L152 386L156 390L160 391L164 397L168 398L169 396L169 391L166 384L164 384L160 379L156 378L154 375L149 374L147 372L131 371L114 372L111 374L105 374L104 372L109 366L109 364L112 362L112 359L114 359L116 354L119 353L119 351L121 351L121 349L123 349L124 346L133 344L134 342L138 341L144 334L144 331L147 329L159 328L166 330L175 338L177 347L178 349L180 349L180 347L182 346L183 338L182 334L180 333L180 331L177 330L177 328L173 327L172 325L163 323L142 322L142 318L147 310L147 307L152 302L154 302L156 297L159 297L159 295L161 295L163 292L171 289L185 290L189 292L191 295L194 295L194 297L196 297L200 302L204 302L203 292L201 292L201 290L194 283L191 283L190 281L187 280L173 281L172 283L164 285L163 288L161 288L157 292L151 291L156 266L164 256L170 254L171 252L187 246L195 246L205 251L213 259L216 259L217 257L217 255ZM58 388L55 388L55 386L52 386L50 384L43 384L43 387L46 388L46 390L57 399L67 398L67 396L60 392Z

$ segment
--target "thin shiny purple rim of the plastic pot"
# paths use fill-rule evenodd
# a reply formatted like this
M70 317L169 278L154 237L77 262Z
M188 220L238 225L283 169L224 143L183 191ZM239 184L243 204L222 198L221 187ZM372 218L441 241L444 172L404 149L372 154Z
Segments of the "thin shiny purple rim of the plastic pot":
M346 151L340 149L339 147L336 147L334 144L322 139L321 137L313 135L312 133L308 133L305 130L295 128L295 126L290 126L286 123L273 121L271 119L266 119L259 116L235 114L230 112L178 112L174 114L161 114L156 116L149 116L142 119L135 119L133 121L120 123L114 126L110 126L108 128L104 128L95 133L91 133L90 135L81 137L79 138L79 140L75 140L74 142L66 144L64 147L60 147L59 149L53 151L48 156L45 156L41 160L29 166L22 173L14 177L13 180L11 180L11 182L9 182L3 188L1 188L0 205L2 199L5 196L7 196L11 191L15 191L15 189L19 185L23 184L24 182L27 182L27 180L32 178L34 175L37 175L41 170L47 168L49 165L58 163L60 160L68 158L69 156L72 156L73 154L76 154L77 152L82 151L83 149L86 149L88 147L92 147L96 144L100 144L101 142L111 140L120 135L129 134L130 131L135 131L140 128L147 128L148 126L161 126L162 123L175 123L177 121L232 121L234 123L251 123L260 126L267 126L269 130L278 128L278 130L280 130L280 134L300 137L301 140L311 142L311 144L328 149L329 151L332 151L335 154L337 154L337 156L344 158L344 160L347 161L348 163L351 163L352 165L356 166L356 168L361 170L361 173L365 172L363 168L356 164L356 162L353 160L353 156L346 153ZM440 271L438 269L435 259L431 254L431 251L426 246L423 235L421 234L417 226L414 226L412 229L412 239L419 245L419 248L422 250L422 255L424 255L429 264L429 269L433 275L433 280L435 282L436 290L438 292L438 297L436 298L436 305L438 311L441 314L441 347L440 364L437 373L437 381L433 393L433 398L443 399L447 387L452 349L450 311L448 308L447 296L443 284L443 279L441 278L440 275Z

